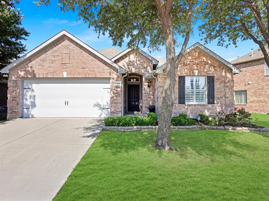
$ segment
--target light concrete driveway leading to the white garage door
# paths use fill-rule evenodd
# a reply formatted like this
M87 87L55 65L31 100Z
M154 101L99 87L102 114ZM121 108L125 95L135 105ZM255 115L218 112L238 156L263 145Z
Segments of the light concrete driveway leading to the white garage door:
M102 118L1 123L0 200L51 200L102 127Z

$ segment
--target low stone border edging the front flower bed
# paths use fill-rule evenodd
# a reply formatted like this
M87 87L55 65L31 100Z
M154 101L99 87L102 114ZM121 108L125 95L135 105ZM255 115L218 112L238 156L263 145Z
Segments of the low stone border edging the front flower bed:
M158 126L104 126L104 131L157 131ZM171 126L171 131L175 130L225 130L244 131L256 133L269 133L269 128L249 128L233 126Z

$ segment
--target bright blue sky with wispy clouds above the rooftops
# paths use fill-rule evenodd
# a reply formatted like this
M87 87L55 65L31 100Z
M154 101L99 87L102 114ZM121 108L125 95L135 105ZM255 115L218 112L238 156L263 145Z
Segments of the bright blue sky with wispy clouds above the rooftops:
M21 0L16 8L20 8L24 18L22 20L23 27L31 34L26 41L23 41L27 46L27 51L34 49L36 46L49 39L62 29L72 33L80 40L84 41L96 50L112 47L112 42L108 36L97 38L97 34L88 28L88 25L83 21L76 22L77 14L73 12L62 13L57 5L56 0L51 0L51 6L37 7L33 0ZM194 36L189 40L188 47L196 42L201 42L199 31L196 24L194 26ZM202 42L201 42L202 43ZM125 50L127 42L123 43L122 47L117 49ZM257 49L259 46L252 40L238 42L238 47L233 45L227 49L217 46L217 40L206 45L207 48L220 55L227 61L232 61L238 56L245 55L251 51L251 48ZM140 47L143 49L143 47ZM147 53L147 48L143 49ZM176 49L179 51L179 48ZM165 47L161 47L161 52L155 51L151 55L165 59Z

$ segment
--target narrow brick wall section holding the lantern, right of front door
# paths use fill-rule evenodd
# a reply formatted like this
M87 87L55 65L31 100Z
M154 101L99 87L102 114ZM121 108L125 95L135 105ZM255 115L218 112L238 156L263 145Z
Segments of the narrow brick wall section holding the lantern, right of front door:
M151 81L148 87L148 80ZM155 105L155 79L144 79L143 81L143 114L147 114L148 106Z

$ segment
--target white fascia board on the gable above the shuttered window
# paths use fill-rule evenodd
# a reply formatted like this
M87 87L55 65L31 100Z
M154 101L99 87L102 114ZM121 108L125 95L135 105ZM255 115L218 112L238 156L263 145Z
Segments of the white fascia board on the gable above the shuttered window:
M221 58L219 55L215 54L213 51L211 51L210 49L208 49L207 47L203 46L201 43L196 42L195 44L193 44L192 46L190 46L188 49L185 50L184 55L189 53L190 51L192 51L194 48L198 48L201 52L203 52L204 54L206 54L207 56L209 56L210 58L212 58L214 61L217 61L218 63L220 63L221 65L225 66L226 68L228 68L229 70L232 71L233 74L237 74L242 72L242 70L240 70L239 68L235 67L234 65L232 65L231 63L229 63L228 61L226 61L225 59ZM165 69L167 67L167 64L163 64L162 66L160 66L159 68L156 69L156 73L162 73L163 69Z

